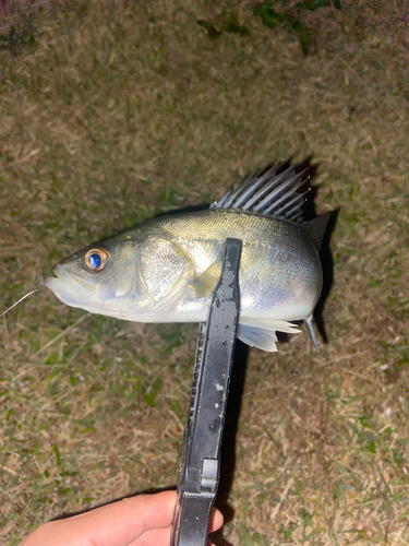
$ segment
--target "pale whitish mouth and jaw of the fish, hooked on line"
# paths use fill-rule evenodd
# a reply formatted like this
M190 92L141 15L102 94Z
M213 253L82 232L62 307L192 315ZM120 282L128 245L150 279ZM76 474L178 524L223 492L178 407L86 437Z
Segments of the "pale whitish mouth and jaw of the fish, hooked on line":
M63 304L72 307L79 307L79 304L85 304L96 293L96 286L82 278L75 278L61 265L56 265L52 270L56 276L47 276L44 280L45 286L49 288Z

